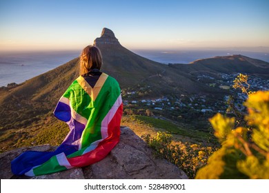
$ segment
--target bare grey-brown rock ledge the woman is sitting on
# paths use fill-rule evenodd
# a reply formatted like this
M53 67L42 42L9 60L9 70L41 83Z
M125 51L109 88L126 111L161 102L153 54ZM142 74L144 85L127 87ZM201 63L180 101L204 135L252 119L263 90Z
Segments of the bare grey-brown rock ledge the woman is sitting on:
M57 147L41 145L19 148L0 154L1 179L188 179L177 166L156 159L148 145L130 128L121 128L121 141L105 159L83 168L72 168L43 176L14 176L10 161L26 150L53 151Z

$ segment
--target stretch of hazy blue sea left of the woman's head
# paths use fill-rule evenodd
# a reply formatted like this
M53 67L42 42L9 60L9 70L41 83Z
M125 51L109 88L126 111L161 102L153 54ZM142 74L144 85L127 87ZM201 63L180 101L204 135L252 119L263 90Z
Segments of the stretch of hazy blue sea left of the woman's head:
M79 57L80 51L0 52L0 87L22 83Z

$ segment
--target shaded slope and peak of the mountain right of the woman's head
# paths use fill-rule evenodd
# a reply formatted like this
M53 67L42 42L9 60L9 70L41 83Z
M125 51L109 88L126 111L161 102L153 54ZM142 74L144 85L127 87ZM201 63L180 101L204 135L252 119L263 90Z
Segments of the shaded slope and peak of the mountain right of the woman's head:
M170 68L141 57L124 48L114 37L114 33L103 28L100 38L94 41L103 54L103 72L116 78L121 88L146 85L155 88L154 96L203 92L204 85L195 83L188 73ZM139 89L139 88L136 88Z

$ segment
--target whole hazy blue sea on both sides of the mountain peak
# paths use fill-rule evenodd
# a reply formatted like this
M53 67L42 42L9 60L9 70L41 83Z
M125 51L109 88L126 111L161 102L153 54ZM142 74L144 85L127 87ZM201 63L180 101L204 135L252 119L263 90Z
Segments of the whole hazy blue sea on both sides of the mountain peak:
M242 54L269 62L269 52L232 50L132 50L160 63L190 63L197 59ZM54 52L0 52L0 87L22 83L79 57L79 50Z

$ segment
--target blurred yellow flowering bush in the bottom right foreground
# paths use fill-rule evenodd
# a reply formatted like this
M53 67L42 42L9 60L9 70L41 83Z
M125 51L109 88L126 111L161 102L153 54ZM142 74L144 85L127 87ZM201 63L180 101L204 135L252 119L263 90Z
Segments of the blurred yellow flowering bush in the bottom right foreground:
M216 114L210 123L221 148L208 159L196 179L269 179L269 91L249 94L248 128L235 128L235 119Z

